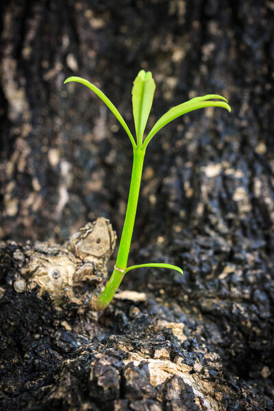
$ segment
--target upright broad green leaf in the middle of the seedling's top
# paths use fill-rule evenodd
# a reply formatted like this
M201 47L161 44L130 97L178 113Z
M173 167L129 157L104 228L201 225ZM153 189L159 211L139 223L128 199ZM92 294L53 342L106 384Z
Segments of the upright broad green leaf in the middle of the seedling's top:
M155 82L151 71L146 73L145 70L141 70L134 80L132 88L132 107L138 147L142 145L142 136L149 118L154 91Z

